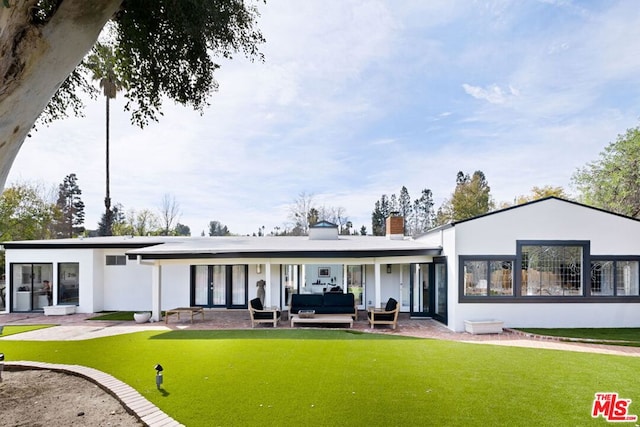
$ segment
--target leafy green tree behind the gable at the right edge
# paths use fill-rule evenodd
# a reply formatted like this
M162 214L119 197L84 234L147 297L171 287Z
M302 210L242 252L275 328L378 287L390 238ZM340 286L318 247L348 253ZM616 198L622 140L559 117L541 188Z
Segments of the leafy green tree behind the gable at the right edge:
M572 182L588 205L640 218L640 127L618 135Z

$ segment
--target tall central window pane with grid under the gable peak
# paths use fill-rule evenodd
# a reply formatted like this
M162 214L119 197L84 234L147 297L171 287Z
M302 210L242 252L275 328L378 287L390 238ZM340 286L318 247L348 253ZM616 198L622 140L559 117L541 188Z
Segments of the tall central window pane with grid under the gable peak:
M523 296L582 295L582 245L522 245Z

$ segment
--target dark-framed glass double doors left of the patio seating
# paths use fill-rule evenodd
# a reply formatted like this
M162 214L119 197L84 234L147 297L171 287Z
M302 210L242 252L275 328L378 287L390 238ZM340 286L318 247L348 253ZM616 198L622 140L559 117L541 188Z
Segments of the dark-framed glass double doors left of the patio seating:
M191 305L247 308L249 266L191 266Z

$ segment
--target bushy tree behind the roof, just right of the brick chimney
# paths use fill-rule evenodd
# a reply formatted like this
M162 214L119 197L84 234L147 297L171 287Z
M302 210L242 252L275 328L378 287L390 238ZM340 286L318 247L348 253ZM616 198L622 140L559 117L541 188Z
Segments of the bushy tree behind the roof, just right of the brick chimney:
M461 221L483 215L493 208L491 187L482 171L475 171L473 176L458 172L456 189L451 195L451 220Z

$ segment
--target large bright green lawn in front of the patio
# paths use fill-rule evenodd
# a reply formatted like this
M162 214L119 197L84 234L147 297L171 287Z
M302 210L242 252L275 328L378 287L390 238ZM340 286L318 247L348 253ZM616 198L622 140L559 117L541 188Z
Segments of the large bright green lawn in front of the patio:
M0 351L103 370L188 426L604 425L590 415L596 392L640 414L634 357L278 329L0 341Z

